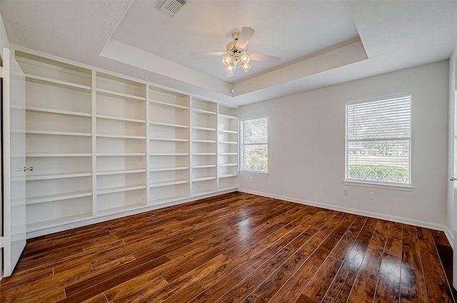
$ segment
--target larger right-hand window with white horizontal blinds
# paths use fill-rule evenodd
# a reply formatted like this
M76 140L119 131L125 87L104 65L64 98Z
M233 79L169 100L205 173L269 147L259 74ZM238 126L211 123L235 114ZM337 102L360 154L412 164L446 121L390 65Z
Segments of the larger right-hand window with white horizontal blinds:
M411 94L346 103L346 180L411 186Z

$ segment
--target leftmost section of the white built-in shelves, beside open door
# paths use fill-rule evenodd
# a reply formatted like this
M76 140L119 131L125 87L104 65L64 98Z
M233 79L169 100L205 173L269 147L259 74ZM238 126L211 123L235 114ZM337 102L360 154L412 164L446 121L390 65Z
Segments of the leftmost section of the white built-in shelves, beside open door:
M91 70L16 51L26 73L27 230L84 220L92 209Z

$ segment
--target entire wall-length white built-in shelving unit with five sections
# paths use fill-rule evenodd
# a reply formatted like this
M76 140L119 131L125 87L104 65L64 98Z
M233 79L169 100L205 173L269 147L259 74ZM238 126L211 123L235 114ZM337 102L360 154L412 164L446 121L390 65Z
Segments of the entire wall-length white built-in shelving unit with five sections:
M237 108L34 52L16 59L29 237L238 188Z

